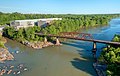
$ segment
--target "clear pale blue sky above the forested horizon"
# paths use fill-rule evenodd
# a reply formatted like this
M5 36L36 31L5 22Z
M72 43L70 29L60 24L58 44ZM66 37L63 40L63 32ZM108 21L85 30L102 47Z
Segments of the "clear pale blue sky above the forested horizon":
M0 12L114 14L120 13L120 0L0 0Z

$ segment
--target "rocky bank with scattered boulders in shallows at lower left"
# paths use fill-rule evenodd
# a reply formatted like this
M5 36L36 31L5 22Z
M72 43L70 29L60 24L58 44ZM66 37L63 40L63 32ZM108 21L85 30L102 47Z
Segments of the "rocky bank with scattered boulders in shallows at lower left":
M3 76L3 75L13 76L13 75L18 75L20 73L27 71L28 68L25 66L24 63L19 63L14 65L15 58L13 54L11 54L8 51L8 48L5 47L4 44L6 42L7 40L4 37L2 37L2 35L0 35L0 43L2 43L0 46L0 76ZM10 60L12 61L7 62Z

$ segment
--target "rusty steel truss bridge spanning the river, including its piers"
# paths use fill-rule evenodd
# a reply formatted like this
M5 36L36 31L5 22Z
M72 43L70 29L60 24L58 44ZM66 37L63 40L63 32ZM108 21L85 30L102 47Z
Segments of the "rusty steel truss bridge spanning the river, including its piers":
M59 34L43 34L43 33L35 33L36 35L40 35L45 37L44 42L47 42L46 37L56 37L56 44L59 45L60 42L58 38L66 38L66 39L74 39L74 40L81 40L81 41L89 41L93 42L93 56L96 58L96 43L103 43L103 44L109 44L109 45L116 45L120 46L120 42L112 42L112 41L105 41L105 40L96 40L93 39L91 34L88 33L79 33L79 32L61 32ZM109 48L109 47L108 47Z

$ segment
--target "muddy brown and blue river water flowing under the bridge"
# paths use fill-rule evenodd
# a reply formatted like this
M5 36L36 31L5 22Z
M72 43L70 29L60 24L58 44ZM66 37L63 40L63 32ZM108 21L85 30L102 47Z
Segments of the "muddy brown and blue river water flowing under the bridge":
M119 24L98 26L79 30L90 33L95 39L112 40L114 34L120 32ZM78 40L67 40L62 46L51 46L39 50L26 47L7 39L5 46L14 53L14 61L7 63L18 65L23 63L28 70L19 76L96 76L92 67L92 43ZM105 44L97 44L97 56Z

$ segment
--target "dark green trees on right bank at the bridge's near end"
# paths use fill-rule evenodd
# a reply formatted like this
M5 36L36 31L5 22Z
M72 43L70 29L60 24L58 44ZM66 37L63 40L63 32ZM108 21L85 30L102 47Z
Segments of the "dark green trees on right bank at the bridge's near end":
M120 35L115 35L113 41L120 42ZM104 48L101 53L100 60L107 63L108 76L120 76L120 47L111 46L109 49Z

